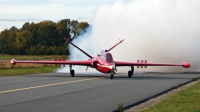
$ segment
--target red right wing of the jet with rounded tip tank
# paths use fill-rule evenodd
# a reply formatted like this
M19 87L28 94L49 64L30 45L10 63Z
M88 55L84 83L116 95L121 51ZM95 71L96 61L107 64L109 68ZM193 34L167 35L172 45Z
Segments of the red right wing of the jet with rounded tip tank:
M189 68L190 64L188 62L184 62L182 64L170 64L170 63L134 63L134 62L115 61L115 66L182 66L184 68Z

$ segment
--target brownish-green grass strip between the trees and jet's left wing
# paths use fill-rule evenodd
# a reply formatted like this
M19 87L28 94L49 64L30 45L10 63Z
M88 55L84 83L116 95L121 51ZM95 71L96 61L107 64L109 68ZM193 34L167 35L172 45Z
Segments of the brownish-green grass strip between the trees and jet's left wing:
M54 60L55 58L59 59L67 59L68 56L66 55L5 55L0 54L0 60Z

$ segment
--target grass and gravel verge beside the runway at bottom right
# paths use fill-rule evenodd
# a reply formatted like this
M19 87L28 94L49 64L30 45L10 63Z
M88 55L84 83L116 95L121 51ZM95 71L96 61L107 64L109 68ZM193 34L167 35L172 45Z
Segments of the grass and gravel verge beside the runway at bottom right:
M178 88L151 98L144 103L127 109L126 112L196 112L200 111L200 79L194 79L192 82L181 85Z

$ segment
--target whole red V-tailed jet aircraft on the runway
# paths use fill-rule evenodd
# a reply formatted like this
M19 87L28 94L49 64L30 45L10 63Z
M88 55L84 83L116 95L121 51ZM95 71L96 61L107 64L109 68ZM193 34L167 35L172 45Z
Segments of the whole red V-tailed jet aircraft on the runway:
M128 77L129 78L131 78L131 76L134 74L134 66L141 67L141 68L143 68L143 67L146 68L147 66L182 66L184 68L190 67L190 64L188 62L184 62L182 64L167 64L167 63L147 63L146 60L145 61L137 60L137 62L114 61L112 54L109 53L109 52L114 47L116 47L118 44L122 43L122 41L124 41L124 39L120 40L120 42L118 42L117 44L112 46L110 49L101 51L100 54L98 54L95 57L92 57L91 55L89 55L88 53L83 51L81 48L79 48L78 46L76 46L75 44L70 42L68 39L65 38L65 40L66 40L66 42L72 44L74 47L76 47L81 52L83 52L86 56L88 56L89 60L80 60L80 61L67 61L67 60L63 60L63 61L60 61L60 60L59 61L58 60L54 60L54 61L25 61L25 60L19 60L19 61L17 61L15 59L12 59L11 64L15 65L16 63L36 63L36 64L64 64L64 65L69 65L70 74L71 74L72 77L74 77L74 75L75 75L75 71L72 69L72 65L86 66L87 69L88 69L88 67L91 67L91 68L95 68L96 70L98 70L101 73L109 73L110 79L113 79L114 74L116 74L116 72L117 72L116 67L120 67L120 66L131 67L131 70L128 71Z

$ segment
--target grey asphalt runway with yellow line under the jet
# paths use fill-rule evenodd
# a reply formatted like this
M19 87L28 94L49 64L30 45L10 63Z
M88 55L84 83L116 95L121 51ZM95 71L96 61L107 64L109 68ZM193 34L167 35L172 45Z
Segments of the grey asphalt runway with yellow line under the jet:
M130 107L200 73L45 73L0 77L0 112L110 112Z

